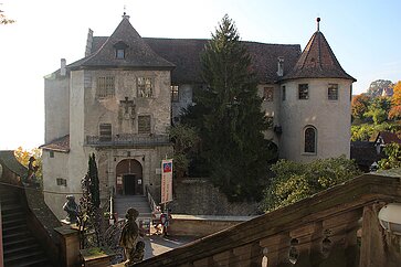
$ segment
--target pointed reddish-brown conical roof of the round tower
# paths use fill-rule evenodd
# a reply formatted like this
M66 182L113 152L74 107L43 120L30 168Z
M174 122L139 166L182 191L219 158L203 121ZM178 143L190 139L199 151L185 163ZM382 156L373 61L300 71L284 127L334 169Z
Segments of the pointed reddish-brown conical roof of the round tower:
M298 62L282 79L346 78L356 82L352 76L342 70L337 61L325 35L319 30L319 21L320 19L318 18L317 31L312 35Z

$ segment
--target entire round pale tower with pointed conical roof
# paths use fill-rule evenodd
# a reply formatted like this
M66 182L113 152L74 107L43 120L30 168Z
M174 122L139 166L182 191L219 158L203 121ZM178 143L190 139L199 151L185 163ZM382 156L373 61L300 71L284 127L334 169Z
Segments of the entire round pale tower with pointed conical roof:
M319 30L281 81L282 158L308 162L350 156L351 90L356 79L337 61Z

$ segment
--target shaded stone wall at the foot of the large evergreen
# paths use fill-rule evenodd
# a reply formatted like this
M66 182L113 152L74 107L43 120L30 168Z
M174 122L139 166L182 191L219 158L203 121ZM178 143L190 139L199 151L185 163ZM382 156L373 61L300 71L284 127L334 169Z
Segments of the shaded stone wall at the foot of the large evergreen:
M175 185L172 213L192 215L257 214L256 203L230 203L220 190L204 179L187 179Z

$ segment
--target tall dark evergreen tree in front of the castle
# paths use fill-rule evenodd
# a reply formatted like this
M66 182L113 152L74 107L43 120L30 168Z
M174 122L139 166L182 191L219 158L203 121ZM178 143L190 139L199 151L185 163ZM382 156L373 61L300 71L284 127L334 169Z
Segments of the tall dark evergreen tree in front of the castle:
M199 129L201 157L212 181L229 199L258 199L276 151L263 137L267 121L251 56L228 15L212 34L201 62L208 87L197 94L197 105L189 108L184 121Z

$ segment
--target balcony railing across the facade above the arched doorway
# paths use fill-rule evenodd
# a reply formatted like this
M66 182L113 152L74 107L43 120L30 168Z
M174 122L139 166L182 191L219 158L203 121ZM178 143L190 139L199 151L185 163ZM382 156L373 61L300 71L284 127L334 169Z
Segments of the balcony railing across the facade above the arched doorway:
M168 136L116 135L113 137L86 136L86 145L92 147L152 147L170 145Z

